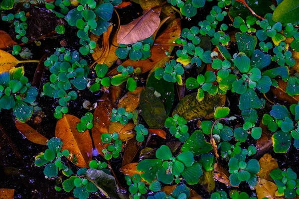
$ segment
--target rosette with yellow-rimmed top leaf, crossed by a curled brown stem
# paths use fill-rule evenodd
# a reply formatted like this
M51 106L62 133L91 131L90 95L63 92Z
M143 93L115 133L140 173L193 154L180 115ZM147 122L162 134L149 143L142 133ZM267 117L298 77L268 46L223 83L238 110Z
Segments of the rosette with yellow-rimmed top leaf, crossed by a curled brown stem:
M224 118L229 114L229 108L228 107L217 107L214 111L214 118ZM220 123L221 120L217 121L213 127L212 133L213 137L217 142L220 142L220 139L224 141L228 141L232 139L232 136L234 135L233 129L229 126L226 126L222 123ZM202 121L200 124L200 128L202 129L202 132L206 135L211 134L211 129L213 126L213 122L210 120Z

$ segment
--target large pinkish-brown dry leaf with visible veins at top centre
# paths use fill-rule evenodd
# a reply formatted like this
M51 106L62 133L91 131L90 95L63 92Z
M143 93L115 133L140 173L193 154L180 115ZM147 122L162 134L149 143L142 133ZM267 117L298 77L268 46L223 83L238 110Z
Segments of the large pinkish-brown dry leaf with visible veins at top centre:
M121 25L117 34L118 44L133 44L149 38L160 24L161 7L149 8L127 25Z

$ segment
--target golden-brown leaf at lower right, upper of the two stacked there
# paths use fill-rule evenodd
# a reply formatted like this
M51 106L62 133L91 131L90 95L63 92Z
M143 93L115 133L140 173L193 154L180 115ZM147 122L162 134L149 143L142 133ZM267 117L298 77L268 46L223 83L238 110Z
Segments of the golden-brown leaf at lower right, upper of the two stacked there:
M277 161L272 158L272 156L268 153L266 153L260 160L259 160L260 166L261 166L261 170L259 173L257 173L257 176L260 178L263 178L267 181L273 181L273 179L270 176L270 172L273 169L277 169L278 168L278 163Z

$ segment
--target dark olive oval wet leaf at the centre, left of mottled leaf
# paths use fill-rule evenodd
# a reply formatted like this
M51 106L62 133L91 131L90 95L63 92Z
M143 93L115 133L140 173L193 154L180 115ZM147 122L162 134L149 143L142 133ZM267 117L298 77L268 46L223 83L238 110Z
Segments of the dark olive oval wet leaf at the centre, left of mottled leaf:
M141 115L150 128L164 126L166 112L163 102L154 95L152 88L146 88L140 95Z

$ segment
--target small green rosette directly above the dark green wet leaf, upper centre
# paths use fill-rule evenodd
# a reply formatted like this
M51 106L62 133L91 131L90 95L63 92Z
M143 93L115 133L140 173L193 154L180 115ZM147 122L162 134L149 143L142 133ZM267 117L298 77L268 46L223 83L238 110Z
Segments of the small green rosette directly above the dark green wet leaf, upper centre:
M165 63L165 68L157 67L154 70L154 77L158 80L163 78L167 82L178 83L181 85L182 75L184 74L184 68L181 64L176 63L175 60L171 60L170 62Z

